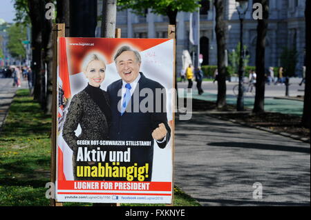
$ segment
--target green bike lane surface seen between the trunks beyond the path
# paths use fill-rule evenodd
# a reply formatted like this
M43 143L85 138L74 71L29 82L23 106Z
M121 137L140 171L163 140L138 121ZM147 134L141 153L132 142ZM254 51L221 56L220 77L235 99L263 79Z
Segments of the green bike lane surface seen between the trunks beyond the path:
M184 94L178 94L179 97L186 97L186 92ZM197 90L192 90L192 98L200 99L205 101L216 101L217 94L210 92L204 92L198 95ZM226 100L228 104L236 105L237 97L232 94L227 94ZM252 109L254 107L254 97L245 96L244 106L245 108ZM296 101L290 99L275 99L274 97L265 98L265 111L267 112L281 112L283 114L295 114L301 116L303 113L303 101Z

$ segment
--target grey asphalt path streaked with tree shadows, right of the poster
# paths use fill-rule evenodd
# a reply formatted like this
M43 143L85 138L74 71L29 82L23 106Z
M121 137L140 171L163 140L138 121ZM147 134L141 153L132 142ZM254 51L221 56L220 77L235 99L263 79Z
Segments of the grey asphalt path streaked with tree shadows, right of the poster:
M176 119L175 149L175 183L202 206L310 206L308 143L193 114Z

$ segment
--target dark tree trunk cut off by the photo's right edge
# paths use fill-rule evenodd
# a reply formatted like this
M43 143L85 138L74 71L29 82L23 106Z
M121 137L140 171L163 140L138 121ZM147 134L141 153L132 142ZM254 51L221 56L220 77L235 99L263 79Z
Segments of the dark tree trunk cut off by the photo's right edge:
M310 43L310 0L305 0L305 97L303 101L303 117L301 123L305 128L310 128L310 71L311 71L311 43Z

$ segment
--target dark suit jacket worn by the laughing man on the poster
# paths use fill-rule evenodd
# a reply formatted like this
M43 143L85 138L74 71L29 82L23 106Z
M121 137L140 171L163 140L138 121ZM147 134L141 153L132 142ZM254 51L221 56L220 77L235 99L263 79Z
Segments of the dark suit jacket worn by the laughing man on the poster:
M145 163L149 163L149 177L144 181L151 181L154 143L151 133L153 130L158 128L160 123L164 123L167 128L167 137L166 141L163 143L157 143L160 148L165 148L171 137L171 129L167 123L166 93L162 92L161 100L158 99L156 101L156 89L163 89L163 91L165 91L164 87L160 83L144 77L144 74L140 72L140 80L138 81L138 85L133 92L131 102L128 106L126 106L126 111L121 116L120 111L117 108L118 104L120 105L121 99L121 97L117 96L117 94L121 88L122 79L111 83L111 85L107 88L109 99L111 101L112 112L109 139L121 141L151 141L151 146L131 147L131 162L138 163L138 166L144 166ZM135 94L139 95L139 92L144 88L149 88L153 92L153 111L150 112L142 112L141 109L138 108L138 105L140 105L142 100L146 99L147 94L144 94L146 97L133 98ZM138 100L138 102L135 102L135 100ZM161 103L161 108L159 108L159 106L156 107L156 103ZM138 109L138 112L133 112L135 108ZM156 109L161 109L161 111L156 112ZM128 112L129 110L131 112ZM125 147L124 150L126 148L127 147Z

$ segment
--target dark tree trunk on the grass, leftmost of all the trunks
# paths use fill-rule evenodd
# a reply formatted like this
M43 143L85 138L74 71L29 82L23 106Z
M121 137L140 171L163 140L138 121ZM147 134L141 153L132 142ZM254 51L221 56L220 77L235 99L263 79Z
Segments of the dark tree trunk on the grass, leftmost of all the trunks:
M41 78L43 69L42 65L42 57L41 57L41 48L42 48L42 28L41 23L44 21L42 19L42 14L44 12L44 8L42 8L43 3L41 0L30 0L28 1L29 8L29 17L32 26L32 71L35 77L35 85L34 85L34 99L36 101L41 102Z

